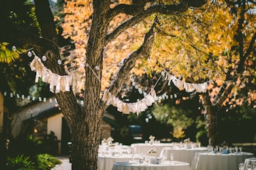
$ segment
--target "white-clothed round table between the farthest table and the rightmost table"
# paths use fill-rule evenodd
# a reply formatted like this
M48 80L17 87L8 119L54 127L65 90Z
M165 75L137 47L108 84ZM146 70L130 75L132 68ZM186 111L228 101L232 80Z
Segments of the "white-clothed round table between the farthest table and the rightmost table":
M174 161L187 162L191 165L192 161L194 159L194 155L197 152L207 151L207 148L206 147L194 147L191 149L187 149L186 147L181 147L181 148L165 147L162 149L160 157L162 157L162 155L164 154L165 151L167 152L167 160L171 160L170 153L174 153Z

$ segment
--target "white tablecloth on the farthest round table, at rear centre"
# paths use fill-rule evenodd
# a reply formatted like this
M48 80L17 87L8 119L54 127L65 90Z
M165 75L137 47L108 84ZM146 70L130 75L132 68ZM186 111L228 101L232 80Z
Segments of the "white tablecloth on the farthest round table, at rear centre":
M147 151L150 149L155 149L156 151L156 157L159 157L163 147L172 147L172 143L154 143L154 144L145 144L145 143L133 143L131 144L131 149L133 153L135 154L141 154L147 155Z

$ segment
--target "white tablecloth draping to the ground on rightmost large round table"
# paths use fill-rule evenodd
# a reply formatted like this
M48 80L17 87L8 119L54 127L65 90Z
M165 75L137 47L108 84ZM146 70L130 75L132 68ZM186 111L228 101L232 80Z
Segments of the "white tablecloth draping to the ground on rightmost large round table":
M236 170L239 169L239 163L243 163L245 159L253 156L253 153L196 153L191 170Z

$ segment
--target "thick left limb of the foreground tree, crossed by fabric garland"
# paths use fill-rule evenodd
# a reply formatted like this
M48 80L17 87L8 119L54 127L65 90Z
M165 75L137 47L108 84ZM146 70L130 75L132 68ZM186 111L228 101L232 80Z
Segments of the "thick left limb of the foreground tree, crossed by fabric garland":
M66 75L66 71L63 65L58 65L57 61L60 59L60 53L58 49L58 38L56 34L56 27L53 20L52 11L50 10L50 4L48 0L35 0L36 16L42 30L43 39L47 41L46 44L40 47L40 53L43 53L48 57L44 62L48 69L58 75ZM37 53L38 51L36 51ZM42 56L40 56L42 57ZM76 119L82 115L82 109L76 102L74 93L72 90L65 93L55 93L56 99L62 108L62 113L71 125Z

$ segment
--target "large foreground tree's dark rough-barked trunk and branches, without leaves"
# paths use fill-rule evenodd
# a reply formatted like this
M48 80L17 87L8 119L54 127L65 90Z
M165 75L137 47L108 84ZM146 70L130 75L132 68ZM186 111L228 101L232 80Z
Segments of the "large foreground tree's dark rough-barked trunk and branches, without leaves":
M189 7L200 7L204 1L179 1L178 3L154 3L155 1L131 1L129 4L117 4L111 8L115 1L92 1L92 20L88 31L88 43L86 49L86 67L84 83L84 105L79 105L72 91L56 93L56 99L62 109L62 113L70 127L72 135L72 169L97 169L97 153L99 147L99 127L103 113L107 109L106 102L101 100L101 78L103 68L103 52L105 46L113 41L125 29L143 21L154 13L177 15L186 11ZM67 2L69 3L69 1ZM90 4L90 1L88 1ZM46 56L44 65L53 73L66 75L63 65L58 65L60 53L54 19L48 1L35 1L36 17L40 26L40 34L31 35L26 31L11 27L14 36L10 41L22 42L25 49L33 48L37 56ZM131 17L124 23L120 23L113 31L109 32L109 23L112 19L125 13ZM117 95L122 84L129 79L127 73L131 71L135 62L142 56L147 59L150 55L151 45L155 39L154 28L157 19L149 19L148 27L143 43L137 47L119 68L117 76L109 85L109 91ZM7 30L5 30L7 31ZM19 35L15 37L16 35ZM96 76L97 75L97 76Z

